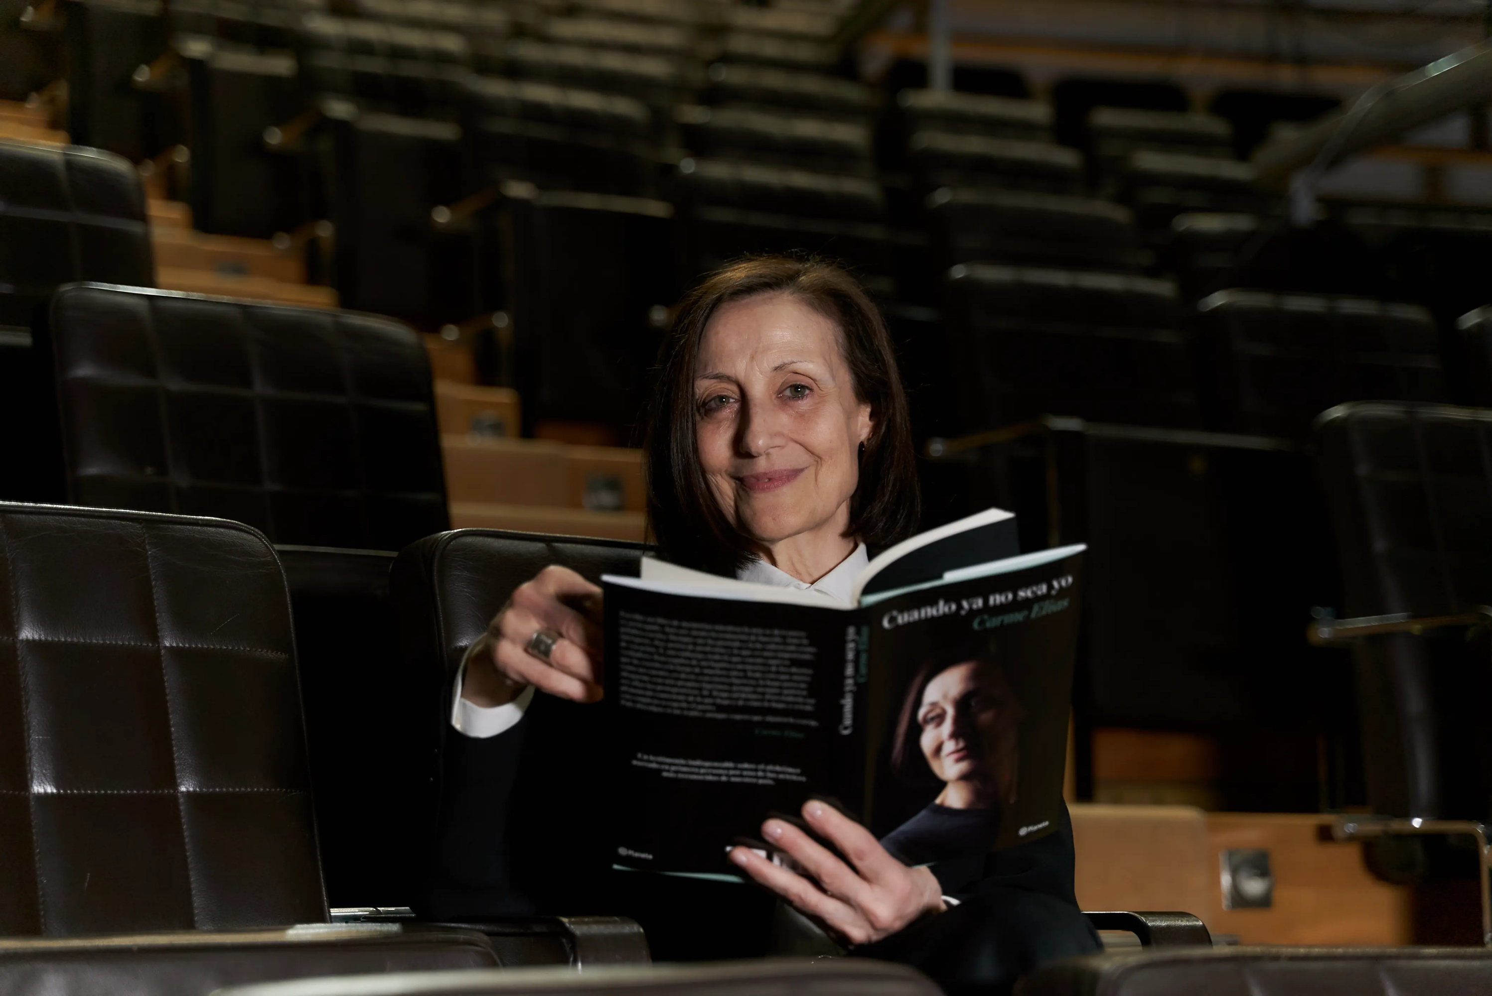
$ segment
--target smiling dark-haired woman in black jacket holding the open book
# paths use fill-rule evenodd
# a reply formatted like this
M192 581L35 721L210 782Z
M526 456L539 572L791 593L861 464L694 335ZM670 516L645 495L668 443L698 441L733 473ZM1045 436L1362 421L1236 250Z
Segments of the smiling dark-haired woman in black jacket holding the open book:
M706 277L677 307L645 415L648 525L665 561L850 602L868 549L918 529L916 453L891 335L870 295L834 265L758 256ZM442 754L427 913L504 911L513 902L507 825L543 816L512 811L515 783L540 777L568 795L582 786L585 765L551 771L546 757L522 754L524 716L536 692L579 704L601 698L600 610L600 587L552 565L513 590L467 652L452 689L457 735ZM974 671L965 677L977 678ZM549 713L561 714L574 717ZM571 735L591 732L576 726ZM1003 777L974 781L989 781L998 801ZM947 799L962 799L970 784L952 778ZM604 795L598 784L580 790ZM540 810L552 805L542 793L531 799ZM944 862L943 871L898 859L822 802L804 804L803 820L839 854L786 820L767 820L764 839L809 874L745 847L733 848L730 862L855 953L916 965L946 992L991 992L1043 960L1098 948L1073 898L1065 808L1059 832L973 865ZM604 814L586 823L604 832ZM574 828L548 836L565 832ZM552 865L568 860L580 856ZM610 908L545 911L630 913L662 959L752 953L722 941L759 944L755 953L764 953L770 917L746 923L740 911L753 908L752 896L739 884L709 886L619 878ZM637 905L648 902L656 915Z

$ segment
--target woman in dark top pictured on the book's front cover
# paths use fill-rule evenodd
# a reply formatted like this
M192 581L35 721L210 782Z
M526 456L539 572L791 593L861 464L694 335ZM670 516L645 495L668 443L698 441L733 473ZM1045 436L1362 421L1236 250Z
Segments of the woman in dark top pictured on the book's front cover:
M941 783L941 790L880 845L907 865L988 851L1004 808L1016 801L1021 717L992 656L922 665L897 719L891 766L915 783Z

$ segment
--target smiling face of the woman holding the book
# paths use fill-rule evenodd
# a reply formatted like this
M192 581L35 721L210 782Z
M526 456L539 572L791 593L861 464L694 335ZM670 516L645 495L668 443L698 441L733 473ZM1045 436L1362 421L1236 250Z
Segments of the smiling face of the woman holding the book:
M843 532L871 417L834 322L785 294L725 304L700 341L694 400L700 461L737 529L765 544Z

